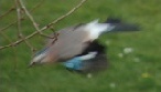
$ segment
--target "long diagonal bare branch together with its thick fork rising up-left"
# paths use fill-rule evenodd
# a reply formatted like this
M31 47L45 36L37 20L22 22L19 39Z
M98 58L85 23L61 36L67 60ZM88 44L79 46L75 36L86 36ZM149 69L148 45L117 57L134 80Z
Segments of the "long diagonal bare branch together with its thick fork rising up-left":
M43 27L42 29L40 29L37 27L37 23L34 21L33 17L28 12L28 10L25 9L25 7L23 6L23 1L20 0L21 2L21 7L25 10L25 13L28 14L28 17L30 18L30 20L33 22L33 25L34 28L36 29L36 31L34 31L33 33L31 33L30 35L23 38L23 39L20 39L15 42L12 42L10 44L7 44L7 45L3 45L3 47L0 47L0 50L2 49L6 49L6 48L9 48L9 47L13 47L13 45L18 45L20 44L21 42L23 42L24 40L28 40L28 39L31 39L33 38L34 35L41 33L42 31L46 30L46 29L50 29L52 25L54 25L55 23L60 22L61 20L67 18L68 16L71 16L74 11L76 11L78 8L80 8L83 6L83 3L85 3L85 1L87 0L82 0L76 7L74 7L73 9L71 9L68 12L66 12L65 14L61 16L60 18L57 18L56 20L54 20L53 22L46 24L45 27Z

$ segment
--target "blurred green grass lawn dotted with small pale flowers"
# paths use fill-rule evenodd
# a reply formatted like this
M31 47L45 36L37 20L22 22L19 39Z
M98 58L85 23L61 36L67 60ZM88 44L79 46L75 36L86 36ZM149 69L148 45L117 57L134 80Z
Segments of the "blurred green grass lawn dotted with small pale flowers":
M75 7L80 0L44 0L32 12L40 27L52 22ZM31 10L40 0L24 0ZM87 78L66 71L61 64L28 69L32 53L25 43L0 50L0 92L160 92L161 91L161 0L87 0L72 16L54 25L55 30L94 19L105 21L108 17L138 23L139 32L109 33L99 40L108 47L108 70ZM0 0L0 16L14 4ZM17 20L17 12L0 19L0 29ZM22 33L34 32L31 21L22 22ZM15 41L17 24L3 31ZM46 30L50 34L52 31ZM36 35L29 40L37 50L45 38ZM10 43L0 34L0 45ZM130 49L130 52L125 50Z

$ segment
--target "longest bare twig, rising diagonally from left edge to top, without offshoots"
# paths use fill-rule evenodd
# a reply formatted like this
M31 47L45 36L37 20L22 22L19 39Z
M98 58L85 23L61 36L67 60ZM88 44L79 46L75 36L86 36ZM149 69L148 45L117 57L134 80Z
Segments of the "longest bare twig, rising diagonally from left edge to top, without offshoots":
M61 16L60 18L57 18L56 20L54 20L53 22L49 23L47 25L43 27L42 29L40 29L40 31L44 31L49 28L51 28L53 24L60 22L61 20L65 19L66 17L68 17L69 14L72 14L74 11L76 11L78 8L80 8L83 6L83 3L87 1L87 0L82 0L76 7L74 7L72 10L69 10L67 13ZM34 37L35 34L37 34L39 32L35 31L33 33L31 33L30 35L25 37L24 39L31 39L32 37ZM4 47L0 47L0 50L1 49L6 49L6 48L9 48L9 47L12 47L12 45L18 45L19 43L23 42L23 39L20 39L11 44L7 44Z

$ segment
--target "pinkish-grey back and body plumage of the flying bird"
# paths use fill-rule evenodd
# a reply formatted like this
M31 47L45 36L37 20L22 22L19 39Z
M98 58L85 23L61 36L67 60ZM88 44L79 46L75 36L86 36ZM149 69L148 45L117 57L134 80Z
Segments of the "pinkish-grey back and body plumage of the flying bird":
M58 59L73 58L88 45L89 41L87 31L84 31L84 27L71 27L57 32L57 40L52 44L52 39L49 40L47 45L51 45L47 54L51 57L57 57Z

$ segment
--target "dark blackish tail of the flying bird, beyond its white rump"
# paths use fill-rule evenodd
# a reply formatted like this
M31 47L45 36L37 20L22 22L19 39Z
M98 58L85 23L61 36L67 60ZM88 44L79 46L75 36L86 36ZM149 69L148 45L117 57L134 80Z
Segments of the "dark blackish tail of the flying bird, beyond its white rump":
M105 23L109 23L115 27L109 32L119 32L119 31L139 31L140 27L135 23L125 23L120 19L108 18Z

